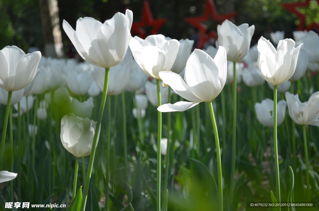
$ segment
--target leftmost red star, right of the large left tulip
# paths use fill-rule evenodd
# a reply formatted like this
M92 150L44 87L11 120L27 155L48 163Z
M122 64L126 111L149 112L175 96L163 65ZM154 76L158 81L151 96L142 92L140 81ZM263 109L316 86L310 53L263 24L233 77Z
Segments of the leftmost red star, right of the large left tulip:
M143 2L143 12L142 12L142 19L140 22L135 22L132 24L131 32L137 33L137 35L145 39L146 38L146 31L143 29L143 26L152 26L151 34L157 34L157 31L162 27L165 23L166 18L160 18L157 20L153 19L152 11L150 8L150 4L148 1Z

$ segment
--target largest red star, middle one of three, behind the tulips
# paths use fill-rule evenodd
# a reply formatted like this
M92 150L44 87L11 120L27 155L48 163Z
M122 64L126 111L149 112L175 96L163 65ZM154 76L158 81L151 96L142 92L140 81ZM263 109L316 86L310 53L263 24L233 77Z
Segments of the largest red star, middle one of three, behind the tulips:
M209 31L207 32L207 25L203 24L204 21L209 21L209 16L214 21L218 21L221 24L226 19L231 19L236 15L236 12L230 12L219 15L215 4L212 0L206 0L206 6L204 9L204 14L202 16L185 18L185 21L189 24L193 25L195 28L199 30L199 38L197 42L197 48L201 49L205 42L207 42L210 38L218 38L216 31Z

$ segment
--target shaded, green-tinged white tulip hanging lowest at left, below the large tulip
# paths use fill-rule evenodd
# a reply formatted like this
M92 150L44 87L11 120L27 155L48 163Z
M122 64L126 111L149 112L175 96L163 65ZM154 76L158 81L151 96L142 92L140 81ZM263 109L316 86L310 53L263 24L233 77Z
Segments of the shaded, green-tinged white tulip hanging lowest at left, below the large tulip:
M66 114L61 120L60 138L63 147L76 157L91 154L96 122L81 118L73 113Z

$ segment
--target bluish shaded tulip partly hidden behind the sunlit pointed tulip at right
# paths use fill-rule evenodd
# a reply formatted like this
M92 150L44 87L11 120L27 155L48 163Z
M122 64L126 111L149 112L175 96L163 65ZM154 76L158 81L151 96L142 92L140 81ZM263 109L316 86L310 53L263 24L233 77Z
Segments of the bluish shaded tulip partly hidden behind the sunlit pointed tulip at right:
M297 81L303 75L305 75L305 72L308 66L308 60L309 60L309 51L302 46L299 51L295 72L293 73L293 76L291 76L289 81L291 82Z

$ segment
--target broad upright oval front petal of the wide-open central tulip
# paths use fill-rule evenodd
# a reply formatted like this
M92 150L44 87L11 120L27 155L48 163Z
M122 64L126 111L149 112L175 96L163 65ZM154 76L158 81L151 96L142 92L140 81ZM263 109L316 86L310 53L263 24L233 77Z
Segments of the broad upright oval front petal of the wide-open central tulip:
M195 49L189 56L185 81L193 94L205 102L211 102L222 90L216 63L199 49Z

